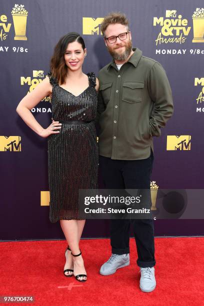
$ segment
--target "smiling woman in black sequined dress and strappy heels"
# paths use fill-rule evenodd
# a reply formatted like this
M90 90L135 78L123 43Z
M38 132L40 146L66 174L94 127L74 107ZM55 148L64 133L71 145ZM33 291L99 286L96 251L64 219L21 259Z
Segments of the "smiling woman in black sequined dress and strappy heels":
M42 137L48 137L49 219L60 220L68 242L64 275L85 281L79 249L85 220L78 211L78 189L97 187L98 149L94 119L99 83L82 72L86 48L75 32L61 37L51 58L51 72L19 102L16 111ZM30 109L51 95L52 123L43 128Z

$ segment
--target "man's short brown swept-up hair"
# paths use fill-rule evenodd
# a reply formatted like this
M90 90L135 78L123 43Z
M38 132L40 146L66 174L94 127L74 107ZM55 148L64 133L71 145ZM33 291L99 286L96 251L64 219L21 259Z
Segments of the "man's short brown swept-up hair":
M108 15L104 16L102 23L100 24L100 29L102 35L104 36L104 31L106 30L109 24L120 23L126 25L127 30L129 30L129 22L124 13L118 12L110 12Z

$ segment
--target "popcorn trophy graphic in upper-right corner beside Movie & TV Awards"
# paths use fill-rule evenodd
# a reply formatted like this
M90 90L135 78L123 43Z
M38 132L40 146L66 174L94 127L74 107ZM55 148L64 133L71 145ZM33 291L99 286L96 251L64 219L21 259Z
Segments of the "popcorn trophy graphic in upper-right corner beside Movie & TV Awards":
M192 15L193 39L192 42L204 42L204 8L196 8Z

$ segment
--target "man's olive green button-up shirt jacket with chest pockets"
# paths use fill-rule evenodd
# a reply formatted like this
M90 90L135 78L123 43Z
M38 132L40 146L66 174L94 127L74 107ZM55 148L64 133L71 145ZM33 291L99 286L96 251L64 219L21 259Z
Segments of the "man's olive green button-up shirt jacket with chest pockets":
M99 154L112 159L144 159L152 136L173 113L171 88L161 64L138 48L118 70L112 60L98 73Z

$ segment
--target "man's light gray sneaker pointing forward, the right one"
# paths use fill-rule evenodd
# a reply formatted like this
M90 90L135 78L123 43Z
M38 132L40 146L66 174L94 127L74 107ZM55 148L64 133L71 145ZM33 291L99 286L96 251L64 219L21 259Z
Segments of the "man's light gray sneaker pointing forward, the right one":
M139 287L143 292L151 292L155 289L156 280L154 276L154 267L140 267L141 277Z

